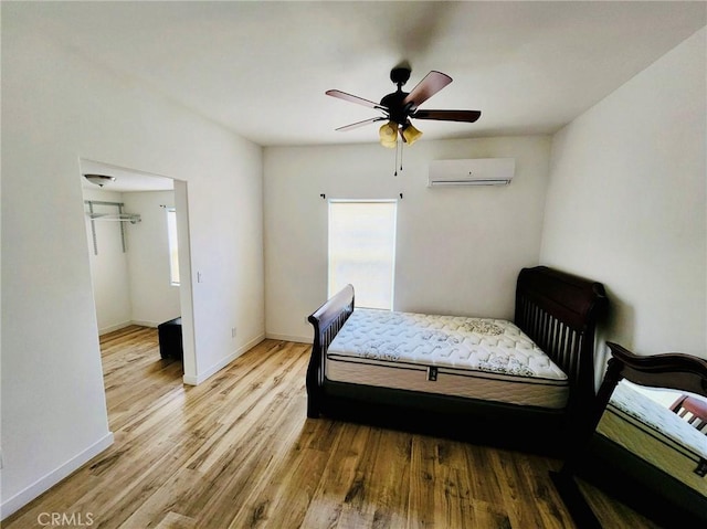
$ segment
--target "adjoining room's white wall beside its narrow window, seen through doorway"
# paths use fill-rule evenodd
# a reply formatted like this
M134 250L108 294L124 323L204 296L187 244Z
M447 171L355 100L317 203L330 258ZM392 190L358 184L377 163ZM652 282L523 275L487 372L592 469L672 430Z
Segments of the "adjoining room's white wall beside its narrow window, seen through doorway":
M173 191L123 193L125 210L139 213L141 221L129 224L128 269L130 320L157 327L180 316L179 286L170 284L167 213L175 207ZM187 276L188 277L188 276Z

